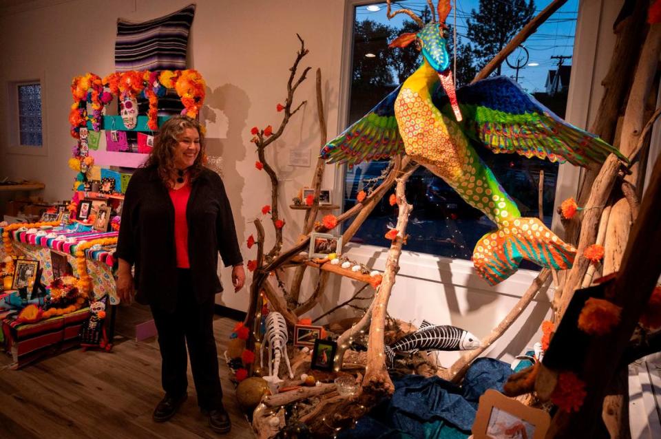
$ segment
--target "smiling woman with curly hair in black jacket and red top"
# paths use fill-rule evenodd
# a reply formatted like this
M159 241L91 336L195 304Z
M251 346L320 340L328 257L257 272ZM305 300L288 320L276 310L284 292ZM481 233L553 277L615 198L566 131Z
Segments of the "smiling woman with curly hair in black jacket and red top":
M200 123L169 118L144 167L132 176L122 208L116 259L120 300L148 304L160 347L165 397L156 422L169 420L187 398L187 352L198 405L218 433L230 430L222 405L213 338L214 297L222 291L218 253L232 266L234 290L245 281L231 207L220 177L202 165ZM132 275L135 267L135 277Z

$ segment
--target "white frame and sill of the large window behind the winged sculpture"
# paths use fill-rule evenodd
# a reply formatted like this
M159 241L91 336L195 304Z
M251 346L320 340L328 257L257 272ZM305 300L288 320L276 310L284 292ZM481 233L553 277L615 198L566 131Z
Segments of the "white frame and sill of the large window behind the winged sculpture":
M587 129L589 109L594 105L596 90L594 87L594 70L596 68L597 38L599 23L602 16L602 3L604 0L579 2L578 19L576 21L576 37L572 59L580 59L580 63L572 63L571 79L569 82L569 97L567 99L567 113L565 120L576 127ZM341 133L348 126L348 114L351 98L351 78L353 60L353 23L355 21L355 8L370 3L382 3L381 0L346 0L344 4L344 32L342 34L342 65L339 85L339 104L337 111L337 133ZM591 17L588 19L586 17ZM580 40L579 40L580 39ZM583 85L583 87L580 87ZM589 84L590 87L585 87ZM598 105L598 103L597 103ZM346 164L335 167L333 178L335 196L337 200L344 200L344 178ZM558 167L558 182L554 200L554 215L552 231L564 235L564 229L557 213L560 203L568 197L575 197L578 191L581 169L571 164L560 164ZM343 210L344 210L344 206ZM385 268L388 248L372 244L346 243L345 253L361 260L369 260L377 270ZM400 257L399 275L413 279L426 279L441 283L451 283L479 290L487 290L487 284L479 278L469 259L450 258L428 253L419 253L403 249ZM433 268L430 270L429 268ZM520 296L530 285L538 272L519 269L514 275L491 288L496 292L507 292L509 295Z

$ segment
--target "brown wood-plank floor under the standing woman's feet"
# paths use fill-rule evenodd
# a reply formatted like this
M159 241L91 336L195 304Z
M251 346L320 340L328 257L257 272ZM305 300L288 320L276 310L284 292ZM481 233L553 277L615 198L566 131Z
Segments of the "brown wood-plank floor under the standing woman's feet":
M232 430L213 433L198 409L189 366L188 400L169 422L151 420L162 398L156 339L136 342L131 325L145 312L120 310L112 352L69 350L21 370L0 352L0 438L253 438L222 353L235 321L216 317L224 406ZM145 314L147 315L147 314Z

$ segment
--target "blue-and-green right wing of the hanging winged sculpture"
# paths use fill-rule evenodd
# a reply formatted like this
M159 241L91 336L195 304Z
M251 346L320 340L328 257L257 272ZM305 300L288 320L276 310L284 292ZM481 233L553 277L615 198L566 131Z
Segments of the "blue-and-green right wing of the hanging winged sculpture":
M443 87L434 105L454 120ZM627 159L598 136L565 122L505 76L487 78L457 89L464 133L494 153L518 153L552 162L587 166L603 162L609 153Z

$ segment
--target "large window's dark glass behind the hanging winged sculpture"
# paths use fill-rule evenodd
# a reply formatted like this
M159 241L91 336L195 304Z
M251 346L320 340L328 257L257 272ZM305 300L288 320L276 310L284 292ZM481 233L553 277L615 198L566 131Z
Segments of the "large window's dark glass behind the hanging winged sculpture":
M402 32L417 31L413 21L405 14L388 20L385 3L355 3L347 125L364 116L414 72L420 62L419 52L413 45L405 49L388 49L388 43ZM499 52L501 45L494 41L507 43L529 21L529 17L550 1L464 0L457 3L456 22L454 12L451 12L446 23L450 25L448 44L451 54L454 28L457 29L455 77L459 86L469 83L474 74ZM398 1L393 10L399 8L413 10L425 21L430 19L426 1ZM498 72L516 78L521 87L560 116L564 116L567 104L577 11L578 1L568 1L525 42L524 47L507 59L508 63L503 64ZM489 18L496 15L497 19ZM502 34L494 34L494 28L500 28ZM538 182L540 172L544 171L543 217L551 226L558 164L525 159L517 154L494 154L480 145L476 145L476 150L516 201L523 216L538 216ZM388 162L368 162L346 169L345 210L355 204L359 191L379 184L379 176L387 165ZM469 206L448 184L426 169L421 168L412 175L406 195L414 206L407 228L410 235L407 250L470 259L477 240L495 228L481 211ZM386 196L361 226L353 242L389 246L384 235L388 226L394 226L396 221L396 206L390 206ZM532 264L527 268L533 268Z

